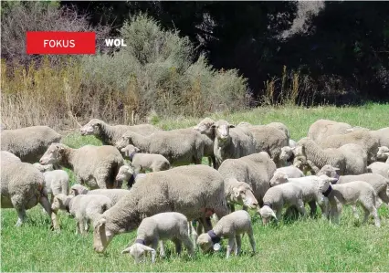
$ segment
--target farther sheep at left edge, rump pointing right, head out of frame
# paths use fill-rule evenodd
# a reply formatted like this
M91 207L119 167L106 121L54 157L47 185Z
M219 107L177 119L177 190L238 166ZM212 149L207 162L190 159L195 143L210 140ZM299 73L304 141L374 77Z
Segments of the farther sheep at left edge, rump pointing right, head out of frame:
M25 163L36 163L51 143L61 140L61 135L47 126L3 130L0 136L1 150L14 153Z

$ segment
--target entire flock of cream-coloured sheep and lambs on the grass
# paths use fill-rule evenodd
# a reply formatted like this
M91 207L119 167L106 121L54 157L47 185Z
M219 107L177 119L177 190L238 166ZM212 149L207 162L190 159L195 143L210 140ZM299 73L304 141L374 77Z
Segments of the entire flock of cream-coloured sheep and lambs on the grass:
M114 236L138 228L136 240L122 251L136 262L149 252L153 262L159 242L163 257L167 239L178 254L184 244L192 255L196 246L218 250L228 238L229 257L231 251L239 254L240 235L247 233L255 252L247 209L257 210L266 225L278 221L283 208L305 215L308 204L315 215L319 205L324 217L339 223L342 205L352 205L358 216L359 203L363 222L372 215L379 227L377 207L389 205L389 128L319 120L308 137L294 142L279 122L234 126L205 118L194 128L162 131L93 119L80 133L103 145L72 149L47 126L2 130L1 207L15 208L21 226L26 209L39 203L55 229L58 210L67 211L76 233L93 227L97 252ZM204 156L208 166L201 164ZM77 184L69 188L61 167L74 172Z

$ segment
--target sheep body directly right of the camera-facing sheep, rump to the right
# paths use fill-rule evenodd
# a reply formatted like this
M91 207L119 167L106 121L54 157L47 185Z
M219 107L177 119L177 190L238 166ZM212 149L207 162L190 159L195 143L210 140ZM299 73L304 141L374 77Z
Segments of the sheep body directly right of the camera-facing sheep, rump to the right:
M289 144L289 138L284 131L277 127L269 125L251 125L248 122L241 122L237 128L247 128L254 137L257 152L268 152L271 159L278 167L283 166L283 161L280 161L279 155L281 148Z

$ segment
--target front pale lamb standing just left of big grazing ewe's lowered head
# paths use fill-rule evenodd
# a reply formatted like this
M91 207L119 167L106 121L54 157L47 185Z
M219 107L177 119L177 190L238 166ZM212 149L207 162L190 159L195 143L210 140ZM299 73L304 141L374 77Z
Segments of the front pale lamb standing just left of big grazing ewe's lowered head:
M110 198L101 194L57 194L51 209L55 212L66 210L73 215L76 218L76 234L83 235L84 231L88 231L88 224L94 226L96 219L110 206Z

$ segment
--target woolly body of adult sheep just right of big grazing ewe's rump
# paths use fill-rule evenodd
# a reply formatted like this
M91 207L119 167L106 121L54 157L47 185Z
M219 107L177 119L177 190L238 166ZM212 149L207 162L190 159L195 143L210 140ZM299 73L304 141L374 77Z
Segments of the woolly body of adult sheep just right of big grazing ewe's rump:
M263 196L270 187L270 179L276 171L276 164L267 152L253 153L237 159L227 159L219 167L225 180L236 179L247 183L258 201L263 204Z

